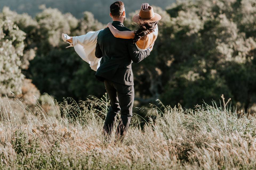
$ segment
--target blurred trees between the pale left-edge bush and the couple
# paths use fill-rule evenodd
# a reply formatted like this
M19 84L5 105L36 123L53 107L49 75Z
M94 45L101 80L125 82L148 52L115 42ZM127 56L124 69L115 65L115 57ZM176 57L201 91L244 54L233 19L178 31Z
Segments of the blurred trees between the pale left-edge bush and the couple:
M42 8L35 17L39 24L37 35L31 40L37 42L37 53L26 75L41 93L49 93L59 101L63 97L85 100L88 95L102 96L103 83L95 79L95 72L73 48L65 49L67 44L62 41L61 34L82 35L102 29L103 25L90 12L77 20L57 9Z

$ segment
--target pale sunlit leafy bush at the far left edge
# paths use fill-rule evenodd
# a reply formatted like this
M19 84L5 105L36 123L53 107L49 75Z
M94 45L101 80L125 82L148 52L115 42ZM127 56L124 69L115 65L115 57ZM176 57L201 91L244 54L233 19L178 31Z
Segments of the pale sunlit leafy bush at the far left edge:
M21 93L24 39L25 32L0 14L0 94Z

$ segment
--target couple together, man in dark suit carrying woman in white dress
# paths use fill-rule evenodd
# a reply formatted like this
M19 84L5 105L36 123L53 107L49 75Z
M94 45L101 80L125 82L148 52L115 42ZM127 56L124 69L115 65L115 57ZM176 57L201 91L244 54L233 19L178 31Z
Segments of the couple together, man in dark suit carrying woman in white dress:
M117 114L121 112L116 130L116 142L122 141L132 117L134 83L131 63L138 63L150 55L158 35L157 23L161 16L153 7L143 3L139 14L133 17L139 29L131 31L123 25L125 6L117 1L110 6L113 19L103 30L88 32L86 35L62 39L74 46L78 55L96 71L96 78L104 82L110 99L110 108L103 126L107 139L111 137Z

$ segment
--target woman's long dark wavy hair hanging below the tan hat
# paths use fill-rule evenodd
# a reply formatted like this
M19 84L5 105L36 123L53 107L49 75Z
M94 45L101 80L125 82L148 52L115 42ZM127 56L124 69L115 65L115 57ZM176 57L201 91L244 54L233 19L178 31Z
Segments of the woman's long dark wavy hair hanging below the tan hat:
M155 27L157 25L157 22L144 22L139 23L139 29L135 31L135 37L133 39L133 43L136 43L139 40L143 40L146 38L146 36L152 32L155 31Z

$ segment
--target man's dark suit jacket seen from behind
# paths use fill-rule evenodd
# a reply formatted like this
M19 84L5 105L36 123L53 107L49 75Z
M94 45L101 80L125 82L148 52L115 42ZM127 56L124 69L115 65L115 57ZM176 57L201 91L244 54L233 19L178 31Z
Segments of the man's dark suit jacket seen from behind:
M119 21L113 21L112 24L119 31L131 31ZM139 52L132 39L116 38L109 28L105 28L99 32L97 38L95 56L102 59L95 76L101 81L107 79L133 86L131 63L138 63L149 54L149 49Z

